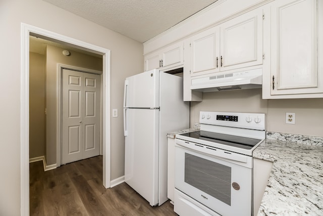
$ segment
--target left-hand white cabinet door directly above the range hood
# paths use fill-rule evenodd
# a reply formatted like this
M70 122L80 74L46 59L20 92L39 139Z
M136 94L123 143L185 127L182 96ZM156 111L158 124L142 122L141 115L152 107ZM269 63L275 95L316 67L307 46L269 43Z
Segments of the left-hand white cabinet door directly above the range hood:
M191 37L191 76L220 71L220 28L205 30Z

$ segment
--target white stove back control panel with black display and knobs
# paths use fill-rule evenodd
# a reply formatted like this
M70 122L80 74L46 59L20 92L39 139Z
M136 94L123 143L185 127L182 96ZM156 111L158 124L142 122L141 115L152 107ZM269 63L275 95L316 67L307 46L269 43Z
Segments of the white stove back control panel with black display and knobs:
M200 111L201 124L240 127L265 131L264 113Z

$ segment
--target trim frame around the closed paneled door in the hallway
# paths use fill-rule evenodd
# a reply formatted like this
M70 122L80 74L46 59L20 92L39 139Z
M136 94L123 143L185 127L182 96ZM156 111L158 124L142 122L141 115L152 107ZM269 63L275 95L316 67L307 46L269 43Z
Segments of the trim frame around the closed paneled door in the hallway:
M92 70L88 68L76 67L72 65L57 64L57 98L58 100L58 116L57 116L57 145L56 145L56 166L59 167L62 165L62 128L63 128L63 69L74 70L82 73L92 73L100 75L100 140L99 140L99 155L102 155L102 79L103 72L99 70Z

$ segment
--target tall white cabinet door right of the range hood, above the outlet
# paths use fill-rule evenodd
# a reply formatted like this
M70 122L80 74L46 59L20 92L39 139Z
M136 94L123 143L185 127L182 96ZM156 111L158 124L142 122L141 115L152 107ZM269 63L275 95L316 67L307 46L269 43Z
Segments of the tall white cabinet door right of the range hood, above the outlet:
M276 1L271 13L271 95L322 93L316 62L316 1Z

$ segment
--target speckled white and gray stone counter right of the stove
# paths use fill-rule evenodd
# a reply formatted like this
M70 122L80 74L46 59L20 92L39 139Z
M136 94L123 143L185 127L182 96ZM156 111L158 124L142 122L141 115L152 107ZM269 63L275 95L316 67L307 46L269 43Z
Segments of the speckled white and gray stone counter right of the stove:
M274 162L258 215L323 215L323 138L271 132L266 138L253 151Z

